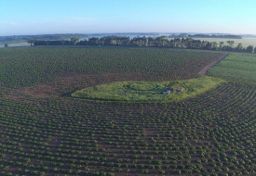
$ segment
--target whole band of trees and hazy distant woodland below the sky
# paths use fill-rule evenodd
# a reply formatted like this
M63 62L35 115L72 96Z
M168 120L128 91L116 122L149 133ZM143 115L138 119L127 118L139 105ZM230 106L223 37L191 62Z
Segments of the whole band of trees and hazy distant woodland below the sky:
M135 33L128 33L135 34ZM138 33L139 34L139 33ZM154 37L137 36L130 38L127 36L104 36L102 34L90 37L88 34L66 33L66 34L44 34L44 35L14 35L0 36L0 44L12 44L28 42L31 45L102 45L102 46L142 46L142 47L168 47L168 48L187 48L204 50L222 50L256 53L256 47L252 45L243 47L242 44L234 45L232 39L241 39L240 35L231 34L187 34L173 33L168 36L158 36L155 33L140 33L144 35L153 34ZM227 42L208 42L196 40L195 38L223 38L230 39ZM71 39L71 40L70 40ZM84 39L84 40L79 40Z

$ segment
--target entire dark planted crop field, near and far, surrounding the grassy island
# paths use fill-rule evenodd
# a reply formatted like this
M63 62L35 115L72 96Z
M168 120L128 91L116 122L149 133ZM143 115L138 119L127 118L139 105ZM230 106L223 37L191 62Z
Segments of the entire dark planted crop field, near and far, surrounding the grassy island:
M223 82L168 103L63 95L109 82L192 79L224 56L150 48L0 49L0 174L254 175L253 84Z

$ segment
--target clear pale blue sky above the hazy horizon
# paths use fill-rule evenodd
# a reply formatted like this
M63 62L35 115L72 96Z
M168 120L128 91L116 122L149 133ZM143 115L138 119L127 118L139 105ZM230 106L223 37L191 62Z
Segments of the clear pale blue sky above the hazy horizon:
M0 0L0 36L52 33L256 34L256 0Z

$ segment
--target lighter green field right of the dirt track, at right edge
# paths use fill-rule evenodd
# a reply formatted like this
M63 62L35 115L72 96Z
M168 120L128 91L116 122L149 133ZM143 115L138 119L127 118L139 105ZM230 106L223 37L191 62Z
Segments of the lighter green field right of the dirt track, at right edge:
M233 54L209 69L209 76L239 82L256 82L256 56Z

